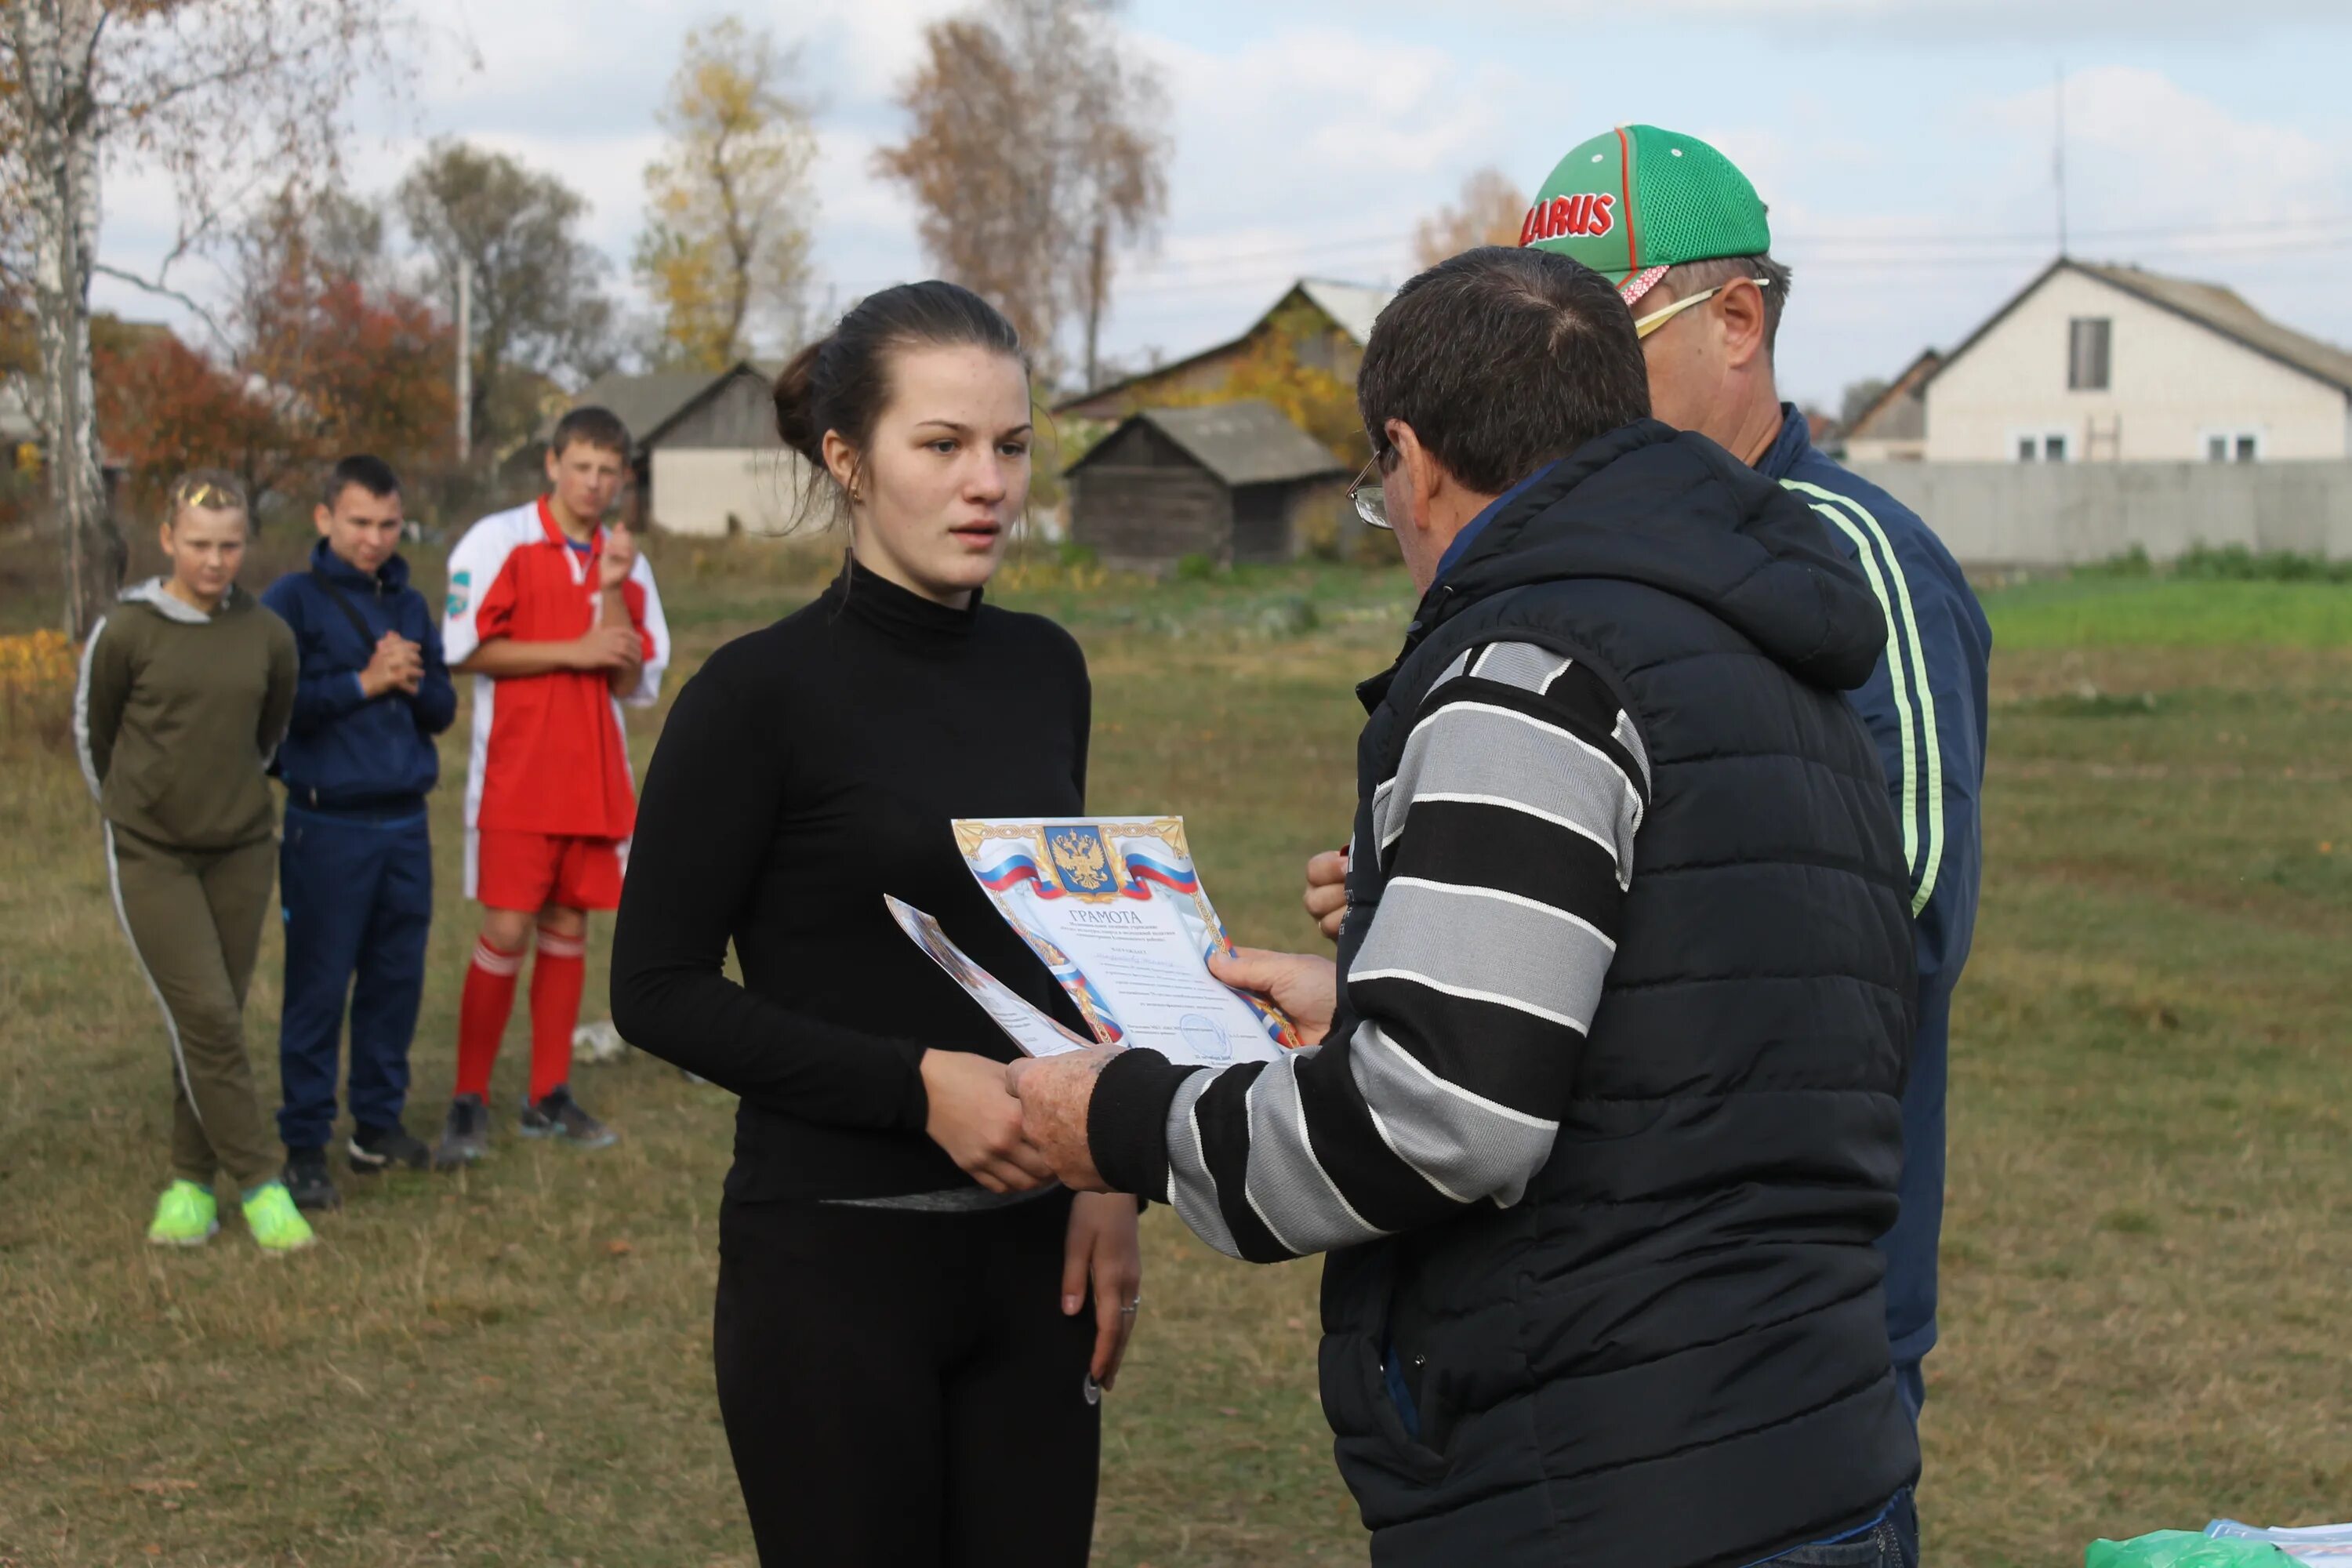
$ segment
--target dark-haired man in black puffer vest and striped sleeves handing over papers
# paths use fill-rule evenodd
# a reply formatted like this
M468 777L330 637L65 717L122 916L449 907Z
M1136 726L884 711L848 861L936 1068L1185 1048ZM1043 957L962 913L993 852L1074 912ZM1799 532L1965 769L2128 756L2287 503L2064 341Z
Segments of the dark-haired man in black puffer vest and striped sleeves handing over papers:
M1910 891L1839 691L1886 628L1804 503L1646 418L1597 273L1477 249L1357 378L1423 588L1362 689L1319 1046L1014 1067L1070 1185L1329 1251L1324 1410L1376 1563L1910 1568L1882 1262Z

